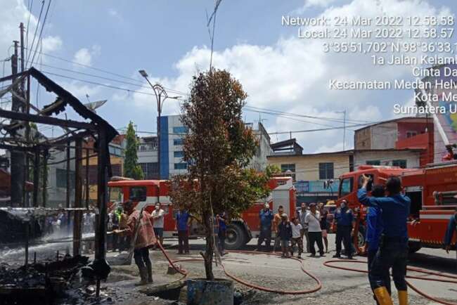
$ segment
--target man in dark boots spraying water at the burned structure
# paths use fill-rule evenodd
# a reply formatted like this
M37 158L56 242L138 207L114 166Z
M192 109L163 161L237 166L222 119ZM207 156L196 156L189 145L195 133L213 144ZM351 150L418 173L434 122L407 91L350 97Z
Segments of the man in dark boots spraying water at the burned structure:
M127 228L114 231L115 234L130 235L134 240L134 261L140 272L140 282L135 285L153 283L153 264L149 257L149 247L155 245L157 240L153 231L152 217L146 210L139 211L134 208L131 200L124 202L127 212Z

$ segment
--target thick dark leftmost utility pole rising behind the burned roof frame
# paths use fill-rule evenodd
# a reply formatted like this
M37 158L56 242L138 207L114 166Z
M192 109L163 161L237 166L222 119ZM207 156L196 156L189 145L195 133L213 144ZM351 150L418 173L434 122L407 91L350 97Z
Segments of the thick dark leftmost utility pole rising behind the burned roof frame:
M15 82L18 74L18 44L14 42L14 54L11 56L11 74L13 78L11 82ZM13 91L18 92L17 86L14 86ZM15 112L23 112L21 101L15 97L11 97L11 110ZM24 181L25 181L25 155L24 152L11 150L11 203L22 207L24 199Z

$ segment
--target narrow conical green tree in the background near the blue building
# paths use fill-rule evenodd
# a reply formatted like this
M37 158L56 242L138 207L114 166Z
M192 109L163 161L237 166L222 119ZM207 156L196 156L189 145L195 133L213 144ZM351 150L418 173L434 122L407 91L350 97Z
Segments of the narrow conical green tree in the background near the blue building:
M124 176L127 178L141 180L143 171L138 164L138 139L136 138L134 124L130 121L125 136L127 145L125 148Z

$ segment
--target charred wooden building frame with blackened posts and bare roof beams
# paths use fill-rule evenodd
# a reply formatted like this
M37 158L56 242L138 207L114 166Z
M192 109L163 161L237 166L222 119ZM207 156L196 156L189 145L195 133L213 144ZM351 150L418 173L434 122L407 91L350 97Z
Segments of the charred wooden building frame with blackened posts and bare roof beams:
M14 71L13 71L14 72ZM30 101L30 84L37 81L37 86L42 86L48 93L55 95L55 100L43 108L38 108ZM0 149L10 152L11 160L11 198L2 205L8 209L27 209L30 214L34 211L50 211L46 207L46 183L48 181L46 169L49 166L49 151L60 148L66 152L63 162L67 164L66 171L66 207L62 210L73 212L73 255L77 256L81 251L82 237L82 212L89 209L88 196L83 202L83 181L87 177L89 157L98 157L98 181L96 202L96 253L94 259L94 271L98 278L105 278L109 273L109 266L105 261L105 236L106 217L108 203L107 182L111 176L110 154L108 144L117 135L117 131L95 112L84 106L75 96L63 87L53 82L39 70L30 67L20 73L11 74L0 78L0 98L11 96L11 110L0 108ZM27 89L25 89L27 88ZM79 119L67 119L63 114L69 112ZM37 125L56 126L63 134L49 137L41 134ZM89 148L84 148L84 141L94 138L96 142L94 155L89 155ZM70 149L74 157L70 157ZM73 205L70 206L70 160L75 162ZM82 164L86 162L86 173L83 172ZM31 180L31 181L29 181ZM86 183L88 183L87 179ZM32 183L32 195L27 193L27 187ZM40 191L41 190L41 191ZM89 193L86 185L85 193ZM6 202L6 203L5 203ZM29 230L27 226L27 239ZM27 251L26 257L27 257ZM28 259L25 260L27 265ZM99 285L98 285L99 286Z

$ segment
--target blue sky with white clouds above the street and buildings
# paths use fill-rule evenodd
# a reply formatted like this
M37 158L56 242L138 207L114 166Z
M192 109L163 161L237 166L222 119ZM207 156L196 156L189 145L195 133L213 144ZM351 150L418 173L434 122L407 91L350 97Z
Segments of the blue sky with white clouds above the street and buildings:
M45 1L45 9L48 1ZM40 2L33 1L30 40L37 25ZM6 58L11 41L18 39L18 23L27 23L30 0L0 0L0 3L5 8L0 13L0 34L3 34L0 38L0 56ZM198 69L205 70L209 62L205 11L211 12L213 5L212 0L53 0L44 28L44 53L109 70L136 81L49 56L39 57L39 63L137 84L143 82L137 71L144 69L153 81L161 82L169 89L186 92L192 74ZM328 90L328 79L411 78L411 67L382 67L375 70L369 58L324 54L321 42L297 39L296 28L281 26L281 15L443 15L455 13L456 5L453 0L224 0L217 14L214 65L231 71L233 76L240 79L249 95L248 105L251 106L335 118L341 118L339 112L347 110L348 118L352 120L374 122L390 119L393 103L411 103L412 92L335 92ZM91 82L148 91L147 88L52 67L40 68ZM132 120L141 131L155 131L157 112L152 96L49 76L83 101L86 100L86 94L89 94L90 100L108 99L98 113L113 126L126 126ZM40 93L39 103L49 103L46 94ZM165 114L178 111L179 102L166 101ZM261 116L270 132L322 127L319 124L342 126L340 122L317 119L291 120L265 114ZM245 112L245 117L252 122L259 119L259 113ZM305 152L342 149L341 130L292 136L299 139ZM349 130L345 148L352 147L352 136L353 132ZM271 136L272 141L283 138L287 136Z

